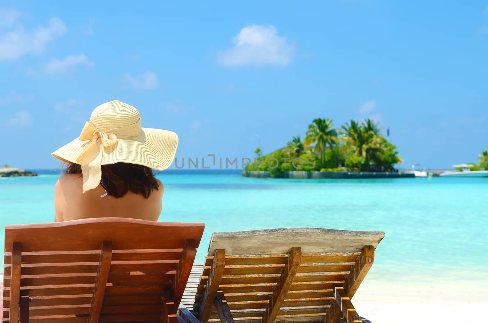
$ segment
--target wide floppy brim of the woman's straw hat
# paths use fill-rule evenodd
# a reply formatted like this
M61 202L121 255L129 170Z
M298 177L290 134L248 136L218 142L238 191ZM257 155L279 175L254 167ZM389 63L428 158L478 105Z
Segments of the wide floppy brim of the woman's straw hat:
M78 163L76 160L89 140L79 138L62 146L51 155L62 162ZM172 131L142 128L141 135L118 139L111 146L103 147L102 165L128 162L164 170L171 166L178 147L178 135Z

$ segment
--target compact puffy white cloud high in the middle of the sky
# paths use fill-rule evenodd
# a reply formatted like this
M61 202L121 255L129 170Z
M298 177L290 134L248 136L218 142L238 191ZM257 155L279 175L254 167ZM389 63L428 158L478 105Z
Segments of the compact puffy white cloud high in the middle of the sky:
M232 39L234 47L218 54L224 66L286 66L294 58L294 48L272 25L246 26Z

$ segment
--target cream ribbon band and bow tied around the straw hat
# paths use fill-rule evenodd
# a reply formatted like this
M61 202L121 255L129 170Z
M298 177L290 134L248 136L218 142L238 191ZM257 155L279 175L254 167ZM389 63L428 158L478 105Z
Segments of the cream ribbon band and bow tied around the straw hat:
M86 121L80 140L89 140L76 159L81 164L83 193L98 186L102 180L102 155L104 147L117 143L118 139L133 138L141 134L141 120L124 127L106 131L98 130L91 121Z

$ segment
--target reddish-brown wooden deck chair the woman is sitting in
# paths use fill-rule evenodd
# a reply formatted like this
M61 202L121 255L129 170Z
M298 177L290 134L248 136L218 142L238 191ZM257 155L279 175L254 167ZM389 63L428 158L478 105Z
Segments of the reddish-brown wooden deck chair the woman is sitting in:
M203 223L5 226L3 322L178 322Z

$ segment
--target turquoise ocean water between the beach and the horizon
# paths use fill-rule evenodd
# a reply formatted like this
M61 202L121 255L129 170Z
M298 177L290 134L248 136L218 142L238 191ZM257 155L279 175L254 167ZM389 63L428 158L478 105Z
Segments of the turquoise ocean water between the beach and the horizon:
M52 222L59 175L0 178L0 224ZM240 171L165 171L160 221L213 231L322 227L385 231L369 280L485 282L488 179L257 179ZM3 243L4 232L0 233Z

